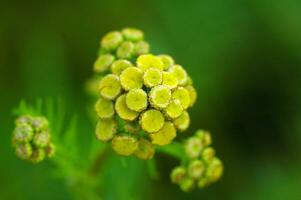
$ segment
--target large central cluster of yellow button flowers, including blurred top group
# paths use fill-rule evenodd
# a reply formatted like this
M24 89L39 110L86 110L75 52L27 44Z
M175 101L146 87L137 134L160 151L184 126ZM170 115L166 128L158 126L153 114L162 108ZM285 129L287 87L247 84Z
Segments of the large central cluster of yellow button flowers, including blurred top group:
M103 75L96 137L111 141L120 155L150 159L154 145L167 145L177 131L185 131L187 112L196 101L196 90L185 69L168 55L149 54L143 32L126 28L101 40L94 71Z

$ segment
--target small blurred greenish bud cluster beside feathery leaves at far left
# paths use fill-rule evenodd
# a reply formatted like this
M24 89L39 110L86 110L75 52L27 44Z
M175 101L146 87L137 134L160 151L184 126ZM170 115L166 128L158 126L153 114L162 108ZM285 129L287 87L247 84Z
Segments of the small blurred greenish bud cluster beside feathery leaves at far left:
M13 145L20 159L38 163L55 154L46 118L24 115L17 118L15 123Z

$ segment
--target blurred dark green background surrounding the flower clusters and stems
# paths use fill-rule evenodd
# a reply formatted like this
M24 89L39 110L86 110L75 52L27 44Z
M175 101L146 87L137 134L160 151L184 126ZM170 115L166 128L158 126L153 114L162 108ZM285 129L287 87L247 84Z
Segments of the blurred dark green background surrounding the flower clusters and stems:
M89 138L83 85L100 37L127 26L193 78L199 98L186 134L212 132L225 174L186 194L169 181L175 160L158 156L160 179L152 180L143 162L124 168L111 156L104 199L300 199L300 10L299 0L1 0L0 199L70 199L47 164L14 155L11 110L21 98L60 97Z

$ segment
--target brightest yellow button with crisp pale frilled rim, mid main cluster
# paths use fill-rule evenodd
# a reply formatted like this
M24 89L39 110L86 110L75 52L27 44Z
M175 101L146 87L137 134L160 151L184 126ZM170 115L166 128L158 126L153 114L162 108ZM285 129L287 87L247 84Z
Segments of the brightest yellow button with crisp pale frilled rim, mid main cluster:
M151 89L149 98L155 108L166 108L171 98L171 91L164 85L158 85Z

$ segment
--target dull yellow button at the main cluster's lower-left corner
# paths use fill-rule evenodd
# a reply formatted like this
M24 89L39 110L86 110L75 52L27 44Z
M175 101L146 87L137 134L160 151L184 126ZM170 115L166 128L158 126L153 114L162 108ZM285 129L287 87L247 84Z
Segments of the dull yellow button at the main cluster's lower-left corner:
M113 138L117 132L117 124L113 119L99 119L96 125L95 135L100 141L106 142Z

